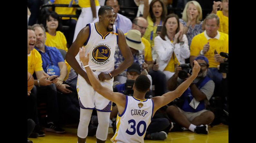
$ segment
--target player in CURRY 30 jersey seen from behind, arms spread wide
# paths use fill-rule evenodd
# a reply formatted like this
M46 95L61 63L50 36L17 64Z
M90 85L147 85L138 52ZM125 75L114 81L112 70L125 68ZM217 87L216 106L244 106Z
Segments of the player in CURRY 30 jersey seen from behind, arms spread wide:
M200 71L198 62L194 60L193 74L185 82L180 84L175 91L167 92L152 99L145 99L145 94L150 88L150 80L146 75L139 75L133 85L133 96L125 96L100 84L90 69L90 56L89 54L85 56L85 52L84 47L80 48L79 56L81 62L86 65L85 70L93 89L110 101L115 102L118 108L117 129L115 135L111 138L114 143L144 143L145 132L156 110L180 97Z

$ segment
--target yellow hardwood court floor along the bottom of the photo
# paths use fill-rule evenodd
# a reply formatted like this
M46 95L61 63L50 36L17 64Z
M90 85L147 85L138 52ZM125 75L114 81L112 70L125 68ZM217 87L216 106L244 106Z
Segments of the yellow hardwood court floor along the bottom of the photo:
M57 134L46 132L46 136L29 138L33 143L77 143L77 128L64 126L66 133ZM145 140L145 143L228 143L228 126L219 124L213 127L208 126L209 134L201 135L191 131L169 132L165 140ZM109 128L106 143L111 143L113 130ZM96 137L87 137L86 143L96 143Z

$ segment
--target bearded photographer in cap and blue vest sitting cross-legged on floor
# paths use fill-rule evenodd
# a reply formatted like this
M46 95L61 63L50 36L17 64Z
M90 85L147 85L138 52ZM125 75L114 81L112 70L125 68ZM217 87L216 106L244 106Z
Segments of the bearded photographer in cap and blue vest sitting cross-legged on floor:
M169 106L166 113L170 119L175 121L177 128L188 129L199 134L208 134L208 124L213 122L214 114L212 111L206 110L205 105L211 99L215 85L213 80L207 76L208 59L204 56L198 56L195 60L201 67L197 77L181 95L181 104ZM178 77L180 70L181 67L176 67L175 74L168 80L168 90L174 91L179 84L187 79L182 80Z

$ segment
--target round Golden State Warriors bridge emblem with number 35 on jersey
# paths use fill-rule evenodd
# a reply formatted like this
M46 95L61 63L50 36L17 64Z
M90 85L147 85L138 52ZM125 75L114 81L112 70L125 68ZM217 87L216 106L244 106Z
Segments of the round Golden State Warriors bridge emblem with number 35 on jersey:
M104 43L93 46L91 61L97 65L105 65L109 62L110 49L111 47Z

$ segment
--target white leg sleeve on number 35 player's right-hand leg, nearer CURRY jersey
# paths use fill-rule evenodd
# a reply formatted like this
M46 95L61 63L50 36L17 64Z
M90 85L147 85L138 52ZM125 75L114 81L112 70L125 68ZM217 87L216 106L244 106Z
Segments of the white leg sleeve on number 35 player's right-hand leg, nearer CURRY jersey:
M97 111L99 125L96 132L96 138L106 140L109 131L109 116L110 112Z

